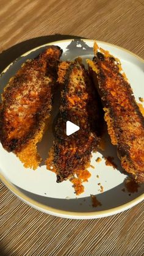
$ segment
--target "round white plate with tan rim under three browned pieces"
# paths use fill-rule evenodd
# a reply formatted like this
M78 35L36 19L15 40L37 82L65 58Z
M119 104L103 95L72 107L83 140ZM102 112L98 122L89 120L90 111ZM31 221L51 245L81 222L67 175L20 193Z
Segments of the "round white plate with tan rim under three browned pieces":
M90 59L93 57L93 40L63 40L46 45L52 44L59 45L63 49L62 60L71 60L77 56L81 56L83 60L87 57ZM21 64L26 59L36 57L46 45L32 49L5 68L0 78L1 92ZM144 83L143 60L118 46L104 42L98 42L98 45L121 60L123 70L131 83L136 100L139 101L139 97L144 97L144 87L142 87ZM55 98L55 101L55 107L52 111L53 118L57 112L57 98ZM47 134L38 146L38 150L44 159L47 156L48 148L52 145L52 139L52 125L50 125ZM124 188L123 181L126 175L120 172L122 168L117 158L116 148L110 144L109 139L107 139L107 150L103 154L104 156L114 156L118 169L113 170L113 167L106 166L104 159L101 163L96 163L96 158L98 156L102 157L102 155L100 152L93 153L91 164L95 169L89 169L92 177L84 183L85 192L80 196L74 194L70 181L56 183L56 175L46 170L45 165L41 165L35 171L24 168L19 159L13 153L7 153L1 144L0 177L16 196L45 213L75 219L109 216L120 213L141 202L144 198L144 186L141 185L138 192L131 194L131 196L129 196L129 192L121 191ZM99 178L96 175L99 175ZM101 183L104 187L104 192L99 192L98 183ZM102 205L93 208L90 194L96 195Z

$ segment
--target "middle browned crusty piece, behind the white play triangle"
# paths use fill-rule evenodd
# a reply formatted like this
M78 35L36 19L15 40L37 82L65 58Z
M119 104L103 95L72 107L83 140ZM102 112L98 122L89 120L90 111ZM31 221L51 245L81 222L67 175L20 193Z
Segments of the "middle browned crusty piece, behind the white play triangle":
M58 81L63 84L56 139L46 160L47 169L57 174L57 182L67 180L90 166L92 150L99 142L98 100L95 89L79 62L62 62ZM66 122L73 122L80 130L66 135Z

